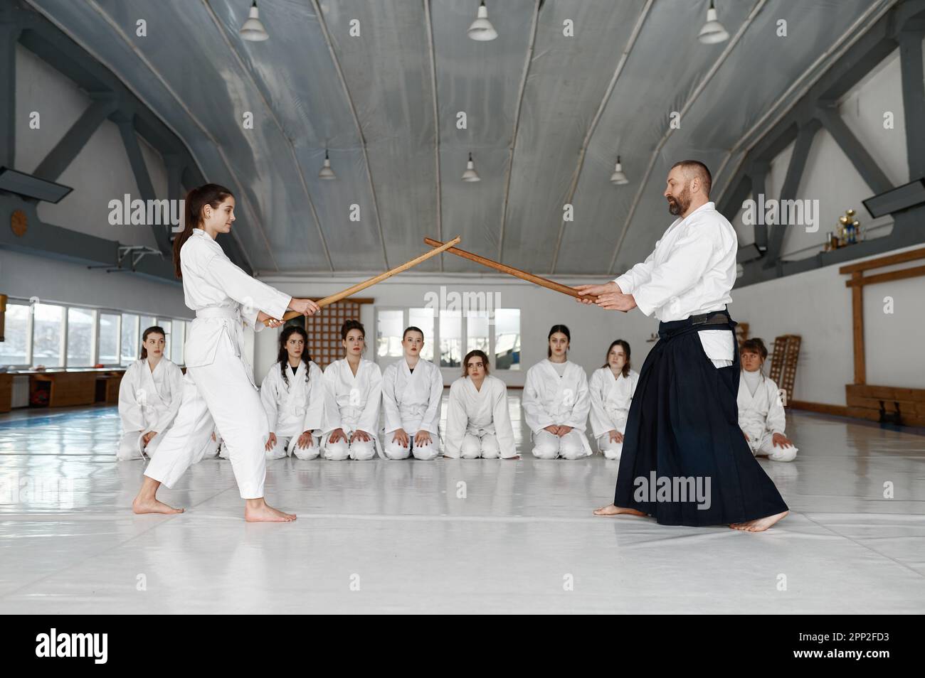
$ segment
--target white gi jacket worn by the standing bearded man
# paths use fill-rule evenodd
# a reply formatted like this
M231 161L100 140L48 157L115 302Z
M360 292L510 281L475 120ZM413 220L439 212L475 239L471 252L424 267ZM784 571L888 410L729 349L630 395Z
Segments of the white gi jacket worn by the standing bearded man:
M692 315L722 310L733 300L735 283L735 229L712 202L675 219L648 259L614 279L636 306L660 321L683 321ZM733 333L703 330L697 333L704 353L722 368L732 365Z

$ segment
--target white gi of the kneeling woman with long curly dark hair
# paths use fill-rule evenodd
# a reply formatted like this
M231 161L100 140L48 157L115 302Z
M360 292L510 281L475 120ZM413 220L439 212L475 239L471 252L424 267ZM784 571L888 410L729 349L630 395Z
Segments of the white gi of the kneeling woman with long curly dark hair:
M277 444L266 452L267 459L282 459L295 454L299 459L314 459L321 454L321 430L325 415L324 375L314 362L299 364L293 374L289 361L285 363L289 383L283 380L279 363L273 363L260 384L260 400L264 404L270 432L276 433ZM307 377L307 378L306 378ZM302 432L312 431L309 447L299 447Z

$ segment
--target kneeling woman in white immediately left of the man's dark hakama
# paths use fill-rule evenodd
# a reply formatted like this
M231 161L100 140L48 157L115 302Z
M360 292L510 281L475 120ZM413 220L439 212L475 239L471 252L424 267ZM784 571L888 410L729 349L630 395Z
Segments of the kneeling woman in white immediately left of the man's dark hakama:
M639 373L630 369L630 345L617 339L607 349L607 362L591 375L591 432L598 450L611 460L620 459L623 433Z

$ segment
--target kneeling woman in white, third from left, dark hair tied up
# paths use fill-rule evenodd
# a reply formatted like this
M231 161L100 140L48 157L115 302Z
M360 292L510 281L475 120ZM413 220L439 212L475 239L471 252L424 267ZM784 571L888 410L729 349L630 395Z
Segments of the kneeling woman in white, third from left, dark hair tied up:
M347 357L325 369L325 436L321 455L331 461L382 456L376 430L382 401L382 371L363 357L366 331L359 321L340 327Z

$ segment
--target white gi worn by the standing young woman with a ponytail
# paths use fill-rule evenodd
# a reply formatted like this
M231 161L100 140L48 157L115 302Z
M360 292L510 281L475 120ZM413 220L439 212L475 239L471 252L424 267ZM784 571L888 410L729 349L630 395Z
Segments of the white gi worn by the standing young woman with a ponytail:
M180 265L184 300L196 311L184 350L183 402L144 475L173 487L194 451L211 437L215 419L240 496L259 499L264 496L269 427L253 369L243 355L242 321L259 332L264 324L257 322L257 313L281 318L291 297L241 271L200 228L180 249Z

